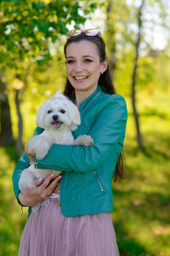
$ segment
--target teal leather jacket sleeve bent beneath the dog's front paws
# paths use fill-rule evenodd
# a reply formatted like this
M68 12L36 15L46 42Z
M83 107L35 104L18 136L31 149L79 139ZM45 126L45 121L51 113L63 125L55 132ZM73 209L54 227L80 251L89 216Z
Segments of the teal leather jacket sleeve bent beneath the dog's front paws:
M123 148L127 122L127 106L123 96L111 95L100 107L96 122L88 135L94 139L94 146L53 144L44 159L38 161L37 168L54 169L65 172L91 172L99 169L110 155L118 159ZM82 134L83 135L83 134Z

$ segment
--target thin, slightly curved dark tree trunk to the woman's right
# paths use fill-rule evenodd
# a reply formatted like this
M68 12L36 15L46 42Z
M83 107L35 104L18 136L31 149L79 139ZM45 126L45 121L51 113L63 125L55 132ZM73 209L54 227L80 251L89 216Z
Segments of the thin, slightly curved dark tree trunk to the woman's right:
M142 135L140 133L140 128L139 128L139 116L138 113L136 111L136 98L135 98L135 85L136 85L136 70L138 67L138 56L139 56L139 44L141 41L141 27L142 27L142 20L141 20L141 16L142 16L142 8L144 5L144 0L142 0L142 4L139 8L139 19L138 19L138 27L139 27L139 33L138 33L138 38L136 41L136 58L135 58L135 63L134 63L134 69L133 69L133 77L132 77L132 105L133 105L133 114L135 117L135 122L136 122L136 131L137 131L137 140L139 143L139 148L144 151L144 145L142 143Z

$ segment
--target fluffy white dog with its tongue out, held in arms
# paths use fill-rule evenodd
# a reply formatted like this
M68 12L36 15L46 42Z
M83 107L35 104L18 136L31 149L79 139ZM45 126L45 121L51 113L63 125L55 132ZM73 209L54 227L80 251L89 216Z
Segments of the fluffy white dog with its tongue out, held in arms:
M52 144L62 145L85 145L91 147L94 140L91 136L82 135L76 140L71 133L80 125L81 119L77 107L71 100L60 93L60 90L50 100L43 103L37 113L36 125L45 129L42 134L34 136L28 141L29 150L34 150L37 160L43 159L48 154ZM50 169L36 169L34 164L24 169L19 180L19 189L23 193L28 188L35 188L34 181L42 178L45 180L48 175L54 173L54 178L62 172L53 171ZM32 212L37 213L37 210L42 205L48 205L49 198L32 207Z

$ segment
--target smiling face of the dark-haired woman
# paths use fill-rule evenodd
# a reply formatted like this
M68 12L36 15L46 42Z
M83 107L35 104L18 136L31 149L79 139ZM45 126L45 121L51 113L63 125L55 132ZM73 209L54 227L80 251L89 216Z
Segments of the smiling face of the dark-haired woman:
M71 43L66 49L66 72L75 90L95 90L99 76L106 69L99 61L96 45L88 41Z

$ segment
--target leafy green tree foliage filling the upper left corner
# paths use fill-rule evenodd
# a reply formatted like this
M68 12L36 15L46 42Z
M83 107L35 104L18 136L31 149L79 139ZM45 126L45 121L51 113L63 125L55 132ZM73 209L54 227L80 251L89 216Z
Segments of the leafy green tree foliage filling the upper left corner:
M65 35L72 21L85 23L84 12L96 4L80 7L77 0L12 0L0 3L0 69L16 68L26 58L41 58L40 67L51 57L49 47ZM48 58L45 56L48 55ZM32 61L31 61L32 62Z

